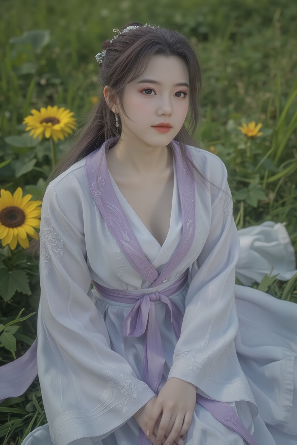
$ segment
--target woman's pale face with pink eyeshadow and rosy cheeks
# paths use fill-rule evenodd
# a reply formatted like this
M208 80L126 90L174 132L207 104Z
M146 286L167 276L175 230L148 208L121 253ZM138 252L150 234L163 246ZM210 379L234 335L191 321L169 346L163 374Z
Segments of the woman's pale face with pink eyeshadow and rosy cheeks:
M168 145L183 126L189 107L188 86L178 83L189 84L185 62L177 56L153 56L145 72L126 85L123 105L130 119L117 107L121 137L136 137L150 146ZM172 128L161 133L152 127L161 122Z

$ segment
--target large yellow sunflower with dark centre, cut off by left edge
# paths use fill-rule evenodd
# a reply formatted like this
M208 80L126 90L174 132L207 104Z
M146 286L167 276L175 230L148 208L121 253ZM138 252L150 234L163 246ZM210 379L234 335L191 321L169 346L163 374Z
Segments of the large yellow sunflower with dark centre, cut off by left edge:
M27 234L38 239L37 232L33 227L40 228L40 216L42 201L31 201L32 194L26 194L20 187L16 189L13 196L8 190L0 191L0 239L3 247L9 244L11 250L16 248L17 242L24 249L29 247Z

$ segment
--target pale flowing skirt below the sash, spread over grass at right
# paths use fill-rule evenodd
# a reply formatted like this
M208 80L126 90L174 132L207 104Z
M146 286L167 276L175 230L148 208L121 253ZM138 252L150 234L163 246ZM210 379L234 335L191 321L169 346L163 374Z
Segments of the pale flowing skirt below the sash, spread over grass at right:
M236 353L255 397L259 414L252 420L245 401L230 403L259 445L297 445L297 304L253 289L265 274L279 274L288 280L297 273L295 252L284 224L268 221L238 231L240 258L236 277L244 285L235 286L239 329ZM170 298L184 312L185 287ZM122 336L122 323L131 304L108 300L93 290L96 307L103 314L115 352L122 355L142 379L143 339ZM165 365L159 389L167 381L172 366L176 337L164 304L156 301ZM106 395L108 396L108 394ZM109 433L83 437L71 445L137 445L138 425L131 417ZM112 430L112 425L110 427ZM243 439L196 403L186 445L244 445ZM21 445L56 445L49 425L34 429ZM65 444L67 443L65 442Z

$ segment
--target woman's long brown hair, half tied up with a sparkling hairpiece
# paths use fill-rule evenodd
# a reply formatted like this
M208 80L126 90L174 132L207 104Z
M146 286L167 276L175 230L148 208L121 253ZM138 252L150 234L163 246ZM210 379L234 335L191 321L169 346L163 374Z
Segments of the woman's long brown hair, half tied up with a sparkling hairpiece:
M192 48L190 42L185 36L177 31L162 28L143 26L138 22L130 22L122 29L128 26L139 26L131 32L123 32L112 40L105 40L102 49L107 49L103 58L100 76L99 76L99 94L98 103L91 109L86 117L86 125L78 130L73 136L76 140L61 159L53 168L49 178L45 182L44 190L40 199L42 200L45 190L54 178L67 170L75 162L84 158L98 147L102 146L107 139L118 136L120 138L122 127L119 119L119 126L116 127L114 113L107 105L103 89L105 85L109 85L113 92L112 97L118 99L122 110L127 116L123 107L123 94L127 84L134 81L145 71L151 57L154 55L163 55L165 57L178 56L187 65L189 74L189 128L186 129L185 124L179 130L174 140L179 143L181 155L186 163L189 172L196 172L197 180L205 186L205 182L209 182L212 186L220 188L213 184L203 173L197 170L194 163L187 156L186 145L198 148L197 142L192 139L200 120L200 112L198 105L198 96L202 87L201 70L199 66L198 56ZM201 148L201 144L199 144ZM221 190L221 189L220 189ZM33 239L30 242L27 252L33 254L39 253L40 240Z

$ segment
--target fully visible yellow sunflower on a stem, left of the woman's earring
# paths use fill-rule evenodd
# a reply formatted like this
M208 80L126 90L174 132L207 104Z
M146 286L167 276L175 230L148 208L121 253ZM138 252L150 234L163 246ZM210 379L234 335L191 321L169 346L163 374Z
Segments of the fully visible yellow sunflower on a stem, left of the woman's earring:
M70 113L69 109L65 107L58 108L48 106L47 108L41 107L40 111L36 109L31 110L32 115L24 118L23 124L27 124L25 131L30 132L30 136L33 138L39 138L41 141L43 135L46 138L52 137L55 142L58 139L63 139L65 136L73 132L72 129L76 128L76 119L71 117L74 113Z

